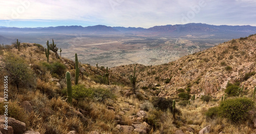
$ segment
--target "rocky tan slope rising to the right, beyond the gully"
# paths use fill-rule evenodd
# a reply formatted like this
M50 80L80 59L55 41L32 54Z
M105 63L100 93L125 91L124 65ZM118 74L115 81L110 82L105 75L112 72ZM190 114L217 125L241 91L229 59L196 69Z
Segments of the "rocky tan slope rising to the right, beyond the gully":
M137 86L153 88L160 84L159 96L170 97L176 94L176 89L187 87L192 93L214 95L223 91L228 82L241 82L241 85L253 89L256 84L253 73L256 71L255 60L256 35L253 35L233 39L168 64L144 67L125 65L112 70L129 75L132 66L138 66Z

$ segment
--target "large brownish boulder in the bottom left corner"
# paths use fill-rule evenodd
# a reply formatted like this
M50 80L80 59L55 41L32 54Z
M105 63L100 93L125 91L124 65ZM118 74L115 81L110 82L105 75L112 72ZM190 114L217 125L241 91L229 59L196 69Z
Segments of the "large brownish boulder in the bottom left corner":
M5 115L0 115L0 124L4 124ZM23 134L26 130L26 124L24 122L15 120L14 118L8 117L8 126L12 126L13 133ZM2 130L1 130L2 131ZM3 132L3 131L2 131Z

